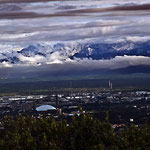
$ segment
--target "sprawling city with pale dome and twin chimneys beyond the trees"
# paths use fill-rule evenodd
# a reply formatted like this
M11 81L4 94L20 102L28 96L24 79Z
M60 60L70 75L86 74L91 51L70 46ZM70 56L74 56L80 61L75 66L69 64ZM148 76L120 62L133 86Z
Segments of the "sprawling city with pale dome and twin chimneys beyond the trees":
M61 115L71 120L74 115L80 115L79 107L85 113L109 120L113 127L138 125L150 122L150 91L113 89L113 83L108 81L108 88L100 89L59 89L46 93L5 95L0 97L0 118L6 115L12 117L28 113L36 118Z

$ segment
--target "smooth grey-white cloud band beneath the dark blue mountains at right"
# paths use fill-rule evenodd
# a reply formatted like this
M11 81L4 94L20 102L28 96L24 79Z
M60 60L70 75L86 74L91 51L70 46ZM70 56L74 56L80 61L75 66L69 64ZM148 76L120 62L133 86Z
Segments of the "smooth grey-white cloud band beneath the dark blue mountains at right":
M117 56L110 60L75 59L72 64L86 69L118 69L137 65L150 65L150 58L144 56Z

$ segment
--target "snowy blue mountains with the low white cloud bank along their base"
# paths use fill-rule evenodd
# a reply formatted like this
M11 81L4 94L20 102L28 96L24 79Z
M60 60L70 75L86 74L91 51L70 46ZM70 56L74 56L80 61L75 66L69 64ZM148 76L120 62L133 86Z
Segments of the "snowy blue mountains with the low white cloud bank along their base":
M128 40L130 38L128 37ZM134 39L138 41L137 38ZM41 66L57 64L63 68L118 69L150 64L150 42L75 43L30 45L19 51L0 54L0 67ZM57 70L57 67L55 70ZM63 69L62 68L62 69ZM60 67L58 67L58 71Z

